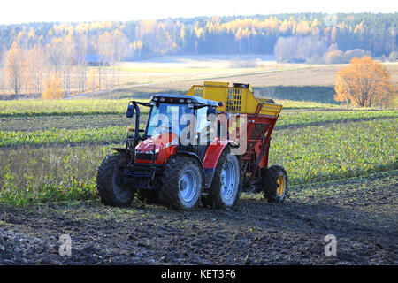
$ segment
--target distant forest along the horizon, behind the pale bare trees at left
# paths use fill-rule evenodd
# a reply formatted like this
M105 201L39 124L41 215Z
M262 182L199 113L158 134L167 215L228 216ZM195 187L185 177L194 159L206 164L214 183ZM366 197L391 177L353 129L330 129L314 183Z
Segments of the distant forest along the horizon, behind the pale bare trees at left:
M96 53L101 34L119 30L126 35L126 59L165 54L264 53L272 54L279 37L315 36L328 47L340 50L370 50L372 57L388 56L396 49L397 14L299 13L252 17L200 17L127 22L29 23L0 26L0 46L12 42L50 44L73 34L89 39L88 50Z

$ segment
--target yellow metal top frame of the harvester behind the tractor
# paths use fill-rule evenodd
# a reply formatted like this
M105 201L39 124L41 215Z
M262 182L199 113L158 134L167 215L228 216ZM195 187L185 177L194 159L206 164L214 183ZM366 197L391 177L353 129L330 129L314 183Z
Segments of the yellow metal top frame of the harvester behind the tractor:
M250 85L249 88L233 88L229 87L229 82L204 81L203 86L192 86L186 95L221 101L224 105L217 110L223 112L254 114L260 107L258 114L278 117L282 110L280 104L267 103L266 99L256 98Z

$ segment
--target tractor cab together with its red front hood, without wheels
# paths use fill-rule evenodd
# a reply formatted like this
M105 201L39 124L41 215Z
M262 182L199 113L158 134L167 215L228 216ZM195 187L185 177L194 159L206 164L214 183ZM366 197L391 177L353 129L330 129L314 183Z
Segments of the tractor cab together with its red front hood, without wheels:
M177 150L197 151L197 139L206 133L211 115L216 115L222 103L179 95L152 96L150 103L131 102L126 116L136 112L136 128L140 125L139 104L149 107L147 125L144 130L130 130L127 149L134 154L134 164L165 164Z

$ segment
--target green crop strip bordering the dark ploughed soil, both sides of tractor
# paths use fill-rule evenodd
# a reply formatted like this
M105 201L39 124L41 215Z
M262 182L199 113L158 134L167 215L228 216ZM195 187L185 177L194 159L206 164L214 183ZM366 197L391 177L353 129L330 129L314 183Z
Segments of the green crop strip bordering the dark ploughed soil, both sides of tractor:
M270 165L283 165L291 185L396 170L396 125L375 119L276 130ZM0 149L0 203L96 198L96 167L112 146Z

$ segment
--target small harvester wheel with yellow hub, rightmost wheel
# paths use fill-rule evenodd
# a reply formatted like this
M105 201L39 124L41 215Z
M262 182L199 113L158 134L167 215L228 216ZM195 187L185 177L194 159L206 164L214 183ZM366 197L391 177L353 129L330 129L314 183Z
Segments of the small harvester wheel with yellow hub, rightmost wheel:
M263 192L268 203L282 203L287 197L287 172L279 165L264 171Z

